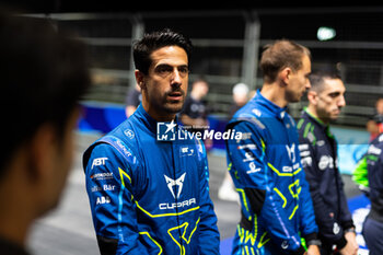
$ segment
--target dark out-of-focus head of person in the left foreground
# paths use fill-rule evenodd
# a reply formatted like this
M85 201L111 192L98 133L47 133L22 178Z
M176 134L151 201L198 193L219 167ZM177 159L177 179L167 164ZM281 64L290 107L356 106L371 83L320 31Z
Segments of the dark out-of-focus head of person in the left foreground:
M43 19L0 13L0 253L27 254L34 220L55 208L71 169L85 46Z

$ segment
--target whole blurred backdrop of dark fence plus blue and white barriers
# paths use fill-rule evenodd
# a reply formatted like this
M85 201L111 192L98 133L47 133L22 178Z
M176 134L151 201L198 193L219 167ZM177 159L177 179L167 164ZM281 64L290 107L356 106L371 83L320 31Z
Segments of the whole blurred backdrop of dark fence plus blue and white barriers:
M25 14L49 18L88 44L93 86L81 102L84 116L79 128L102 134L126 119L125 98L136 84L131 45L146 32L170 27L190 37L189 83L201 76L209 82L206 100L210 128L216 130L222 130L229 118L234 84L246 83L253 93L260 89L263 47L275 39L295 40L311 49L313 70L335 68L345 81L347 106L334 123L334 131L344 146L340 166L347 167L343 173L351 173L369 141L365 124L383 96L383 5L330 5L326 1L312 7L265 5L241 0L206 5L209 1L141 1L123 7L116 1L69 4L54 0L30 3ZM306 104L305 96L290 104L290 114L298 118ZM222 149L223 143L214 147Z

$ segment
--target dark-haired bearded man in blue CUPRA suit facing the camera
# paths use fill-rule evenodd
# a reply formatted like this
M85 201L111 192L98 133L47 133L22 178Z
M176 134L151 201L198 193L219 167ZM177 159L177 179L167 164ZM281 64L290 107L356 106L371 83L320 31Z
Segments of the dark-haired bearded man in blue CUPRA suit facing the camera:
M178 130L190 48L188 38L171 30L137 42L135 74L142 103L84 153L102 255L219 254L204 143L156 139L160 126L165 125L165 134Z

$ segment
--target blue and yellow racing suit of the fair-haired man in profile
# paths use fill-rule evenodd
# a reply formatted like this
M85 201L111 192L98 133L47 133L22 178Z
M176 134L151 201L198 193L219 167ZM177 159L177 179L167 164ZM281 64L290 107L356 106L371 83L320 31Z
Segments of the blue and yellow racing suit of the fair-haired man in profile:
M303 254L301 236L316 240L317 225L294 120L258 91L227 129L242 132L227 142L242 205L232 254Z

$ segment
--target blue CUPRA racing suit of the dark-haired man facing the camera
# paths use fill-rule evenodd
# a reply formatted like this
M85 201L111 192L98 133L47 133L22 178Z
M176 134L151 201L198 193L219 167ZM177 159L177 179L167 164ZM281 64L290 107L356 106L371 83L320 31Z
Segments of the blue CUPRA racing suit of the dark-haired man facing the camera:
M205 147L156 141L159 124L140 105L84 153L101 253L219 254Z

